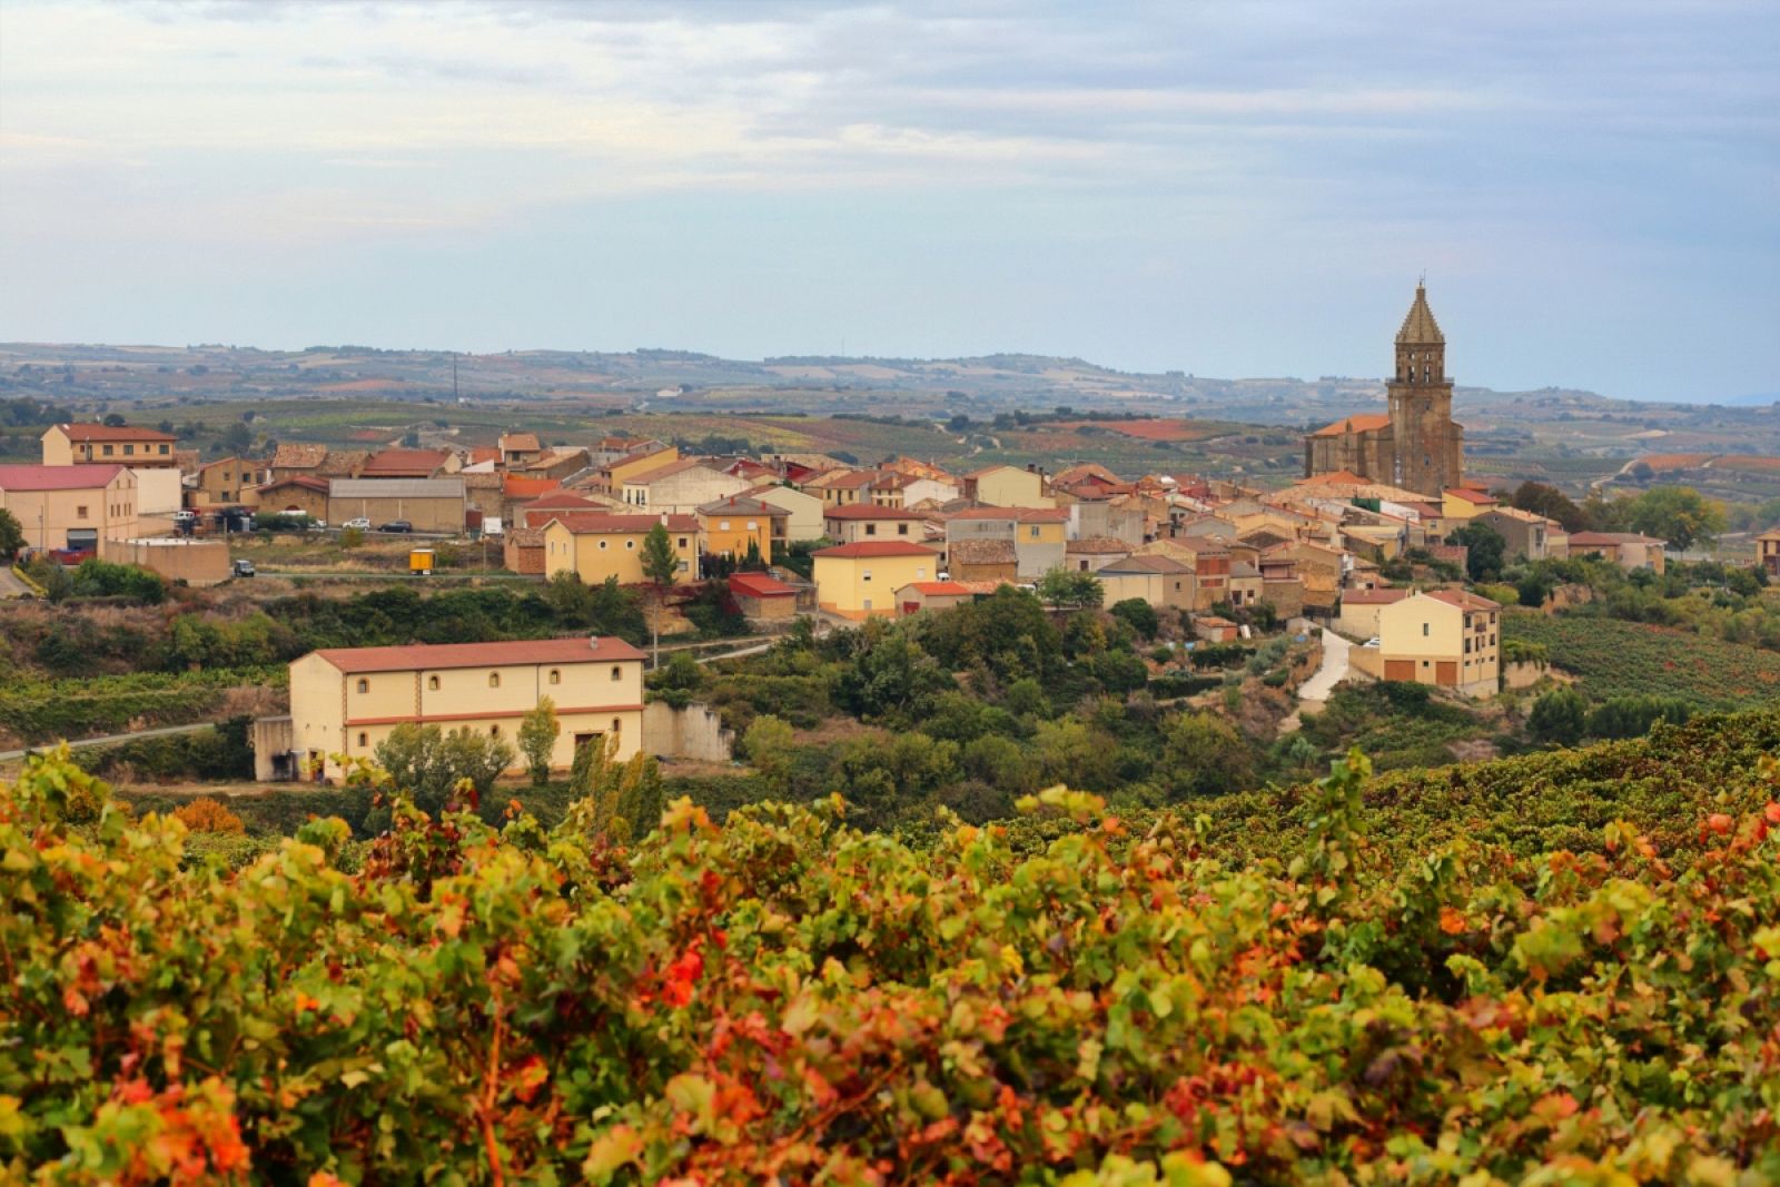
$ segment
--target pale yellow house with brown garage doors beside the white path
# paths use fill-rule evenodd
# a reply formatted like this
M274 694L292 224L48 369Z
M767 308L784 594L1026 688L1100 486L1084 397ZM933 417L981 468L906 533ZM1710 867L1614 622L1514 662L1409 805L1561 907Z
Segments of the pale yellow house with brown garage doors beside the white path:
M1465 696L1495 696L1501 614L1502 607L1463 589L1435 589L1380 607L1383 678L1431 683Z

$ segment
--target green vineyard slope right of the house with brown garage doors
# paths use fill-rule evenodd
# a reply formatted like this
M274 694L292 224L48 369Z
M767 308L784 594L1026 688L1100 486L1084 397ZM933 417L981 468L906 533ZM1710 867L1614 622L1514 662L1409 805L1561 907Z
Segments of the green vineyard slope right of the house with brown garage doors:
M1780 655L1705 635L1593 616L1504 614L1502 641L1538 642L1597 699L1661 692L1700 708L1780 698Z

